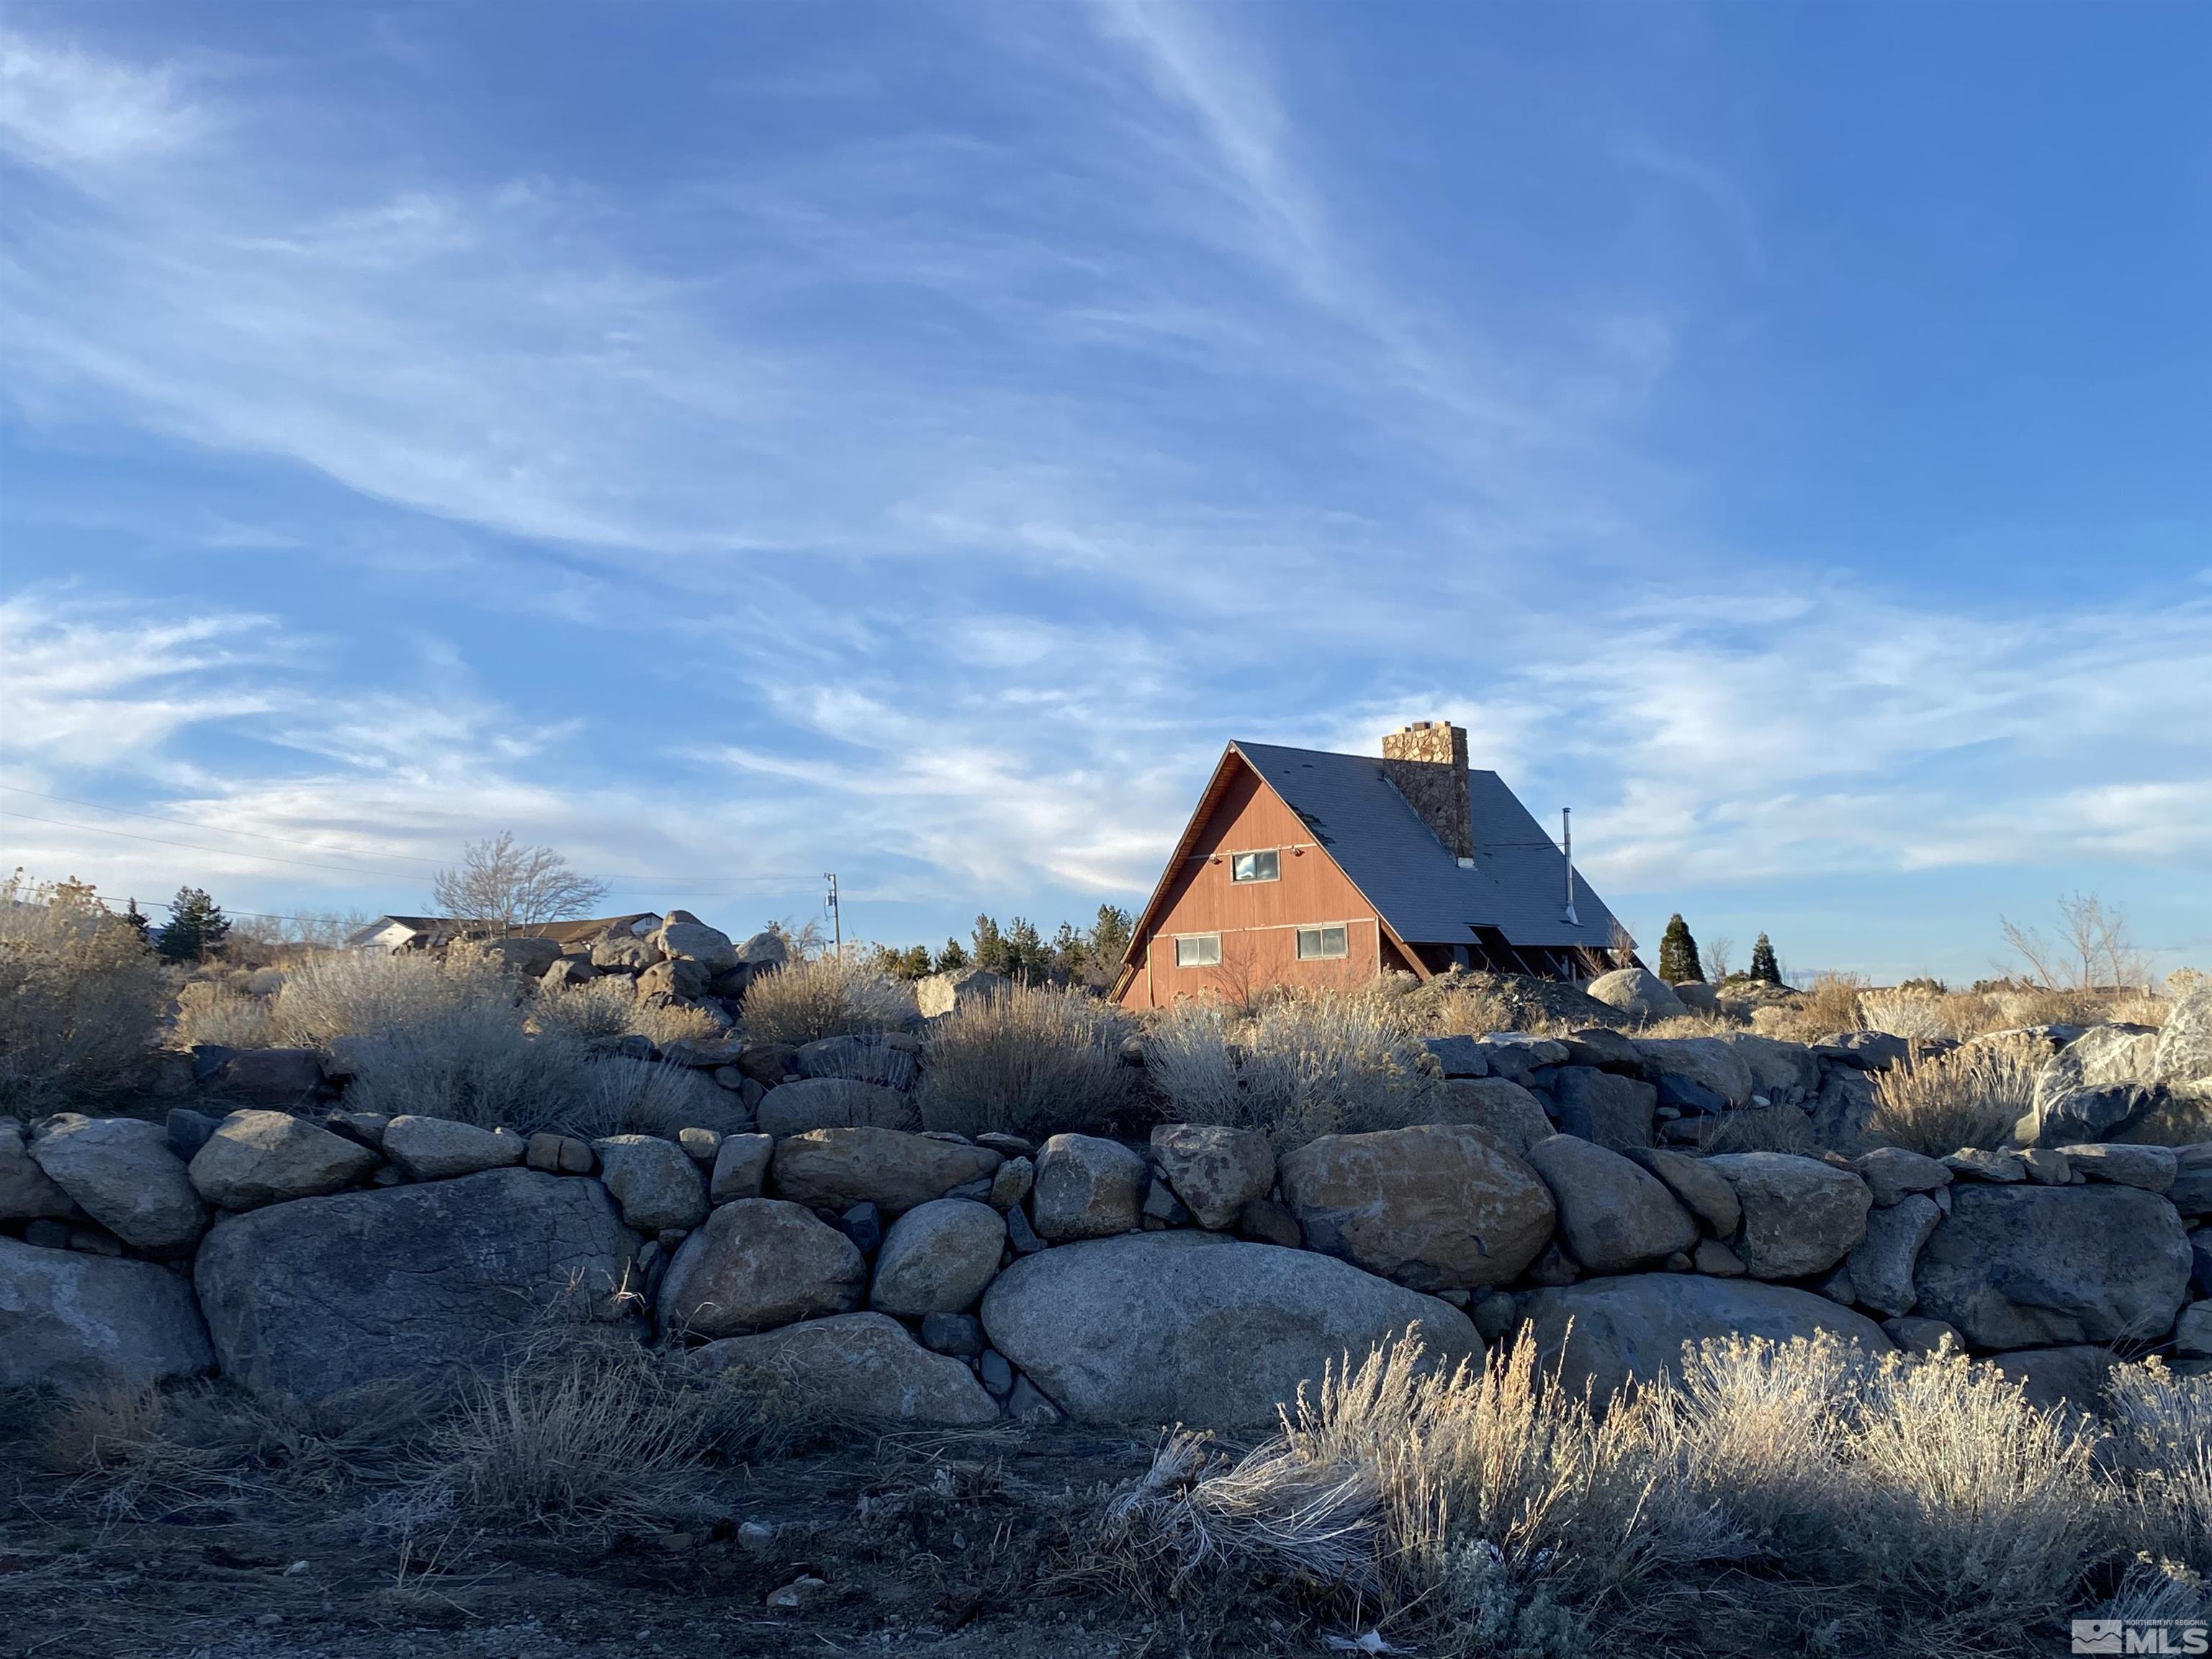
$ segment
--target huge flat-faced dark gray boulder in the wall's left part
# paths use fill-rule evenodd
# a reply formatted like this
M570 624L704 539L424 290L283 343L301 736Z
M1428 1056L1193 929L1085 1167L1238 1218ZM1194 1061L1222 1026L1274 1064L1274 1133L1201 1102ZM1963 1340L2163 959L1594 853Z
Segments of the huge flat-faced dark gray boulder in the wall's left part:
M498 1363L549 1316L630 1321L637 1252L597 1181L487 1170L228 1217L192 1283L223 1374L312 1400Z

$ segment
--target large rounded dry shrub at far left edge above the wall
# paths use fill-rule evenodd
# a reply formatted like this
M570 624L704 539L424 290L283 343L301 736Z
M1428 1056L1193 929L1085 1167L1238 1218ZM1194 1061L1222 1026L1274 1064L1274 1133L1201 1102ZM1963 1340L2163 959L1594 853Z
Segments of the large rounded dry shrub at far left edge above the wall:
M168 980L91 887L0 883L0 1110L33 1117L128 1093Z

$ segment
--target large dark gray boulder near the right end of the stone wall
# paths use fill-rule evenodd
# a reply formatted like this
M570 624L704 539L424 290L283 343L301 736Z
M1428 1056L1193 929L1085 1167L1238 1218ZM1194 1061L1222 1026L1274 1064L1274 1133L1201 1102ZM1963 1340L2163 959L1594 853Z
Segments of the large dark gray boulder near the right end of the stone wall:
M2181 1217L2130 1186L1955 1186L1913 1274L1978 1349L2157 1340L2188 1283Z

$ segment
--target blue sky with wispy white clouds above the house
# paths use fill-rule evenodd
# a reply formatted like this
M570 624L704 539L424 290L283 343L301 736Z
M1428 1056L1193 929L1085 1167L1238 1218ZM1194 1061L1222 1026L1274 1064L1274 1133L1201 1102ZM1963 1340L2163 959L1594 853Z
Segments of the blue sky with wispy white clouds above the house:
M1135 909L1469 728L1646 949L2212 967L2212 9L0 11L0 860Z

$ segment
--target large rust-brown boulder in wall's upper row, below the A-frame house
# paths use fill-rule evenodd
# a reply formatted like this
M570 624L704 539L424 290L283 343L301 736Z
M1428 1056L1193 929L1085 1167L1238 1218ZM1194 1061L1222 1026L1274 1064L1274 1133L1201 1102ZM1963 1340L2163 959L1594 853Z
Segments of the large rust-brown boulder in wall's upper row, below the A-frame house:
M1557 1219L1520 1155L1451 1124L1323 1135L1276 1168L1310 1250L1413 1290L1502 1285Z

